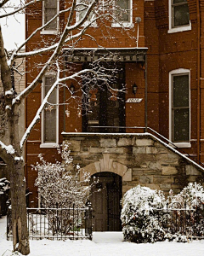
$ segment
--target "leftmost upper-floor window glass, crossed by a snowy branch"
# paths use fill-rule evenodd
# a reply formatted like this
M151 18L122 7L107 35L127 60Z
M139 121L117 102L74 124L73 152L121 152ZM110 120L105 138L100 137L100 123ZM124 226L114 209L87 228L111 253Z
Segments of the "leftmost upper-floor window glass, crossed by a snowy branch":
M58 14L58 0L44 0L42 3L42 25L46 24L49 20L51 20L55 15ZM56 31L58 29L58 18L53 20L44 28L44 31Z

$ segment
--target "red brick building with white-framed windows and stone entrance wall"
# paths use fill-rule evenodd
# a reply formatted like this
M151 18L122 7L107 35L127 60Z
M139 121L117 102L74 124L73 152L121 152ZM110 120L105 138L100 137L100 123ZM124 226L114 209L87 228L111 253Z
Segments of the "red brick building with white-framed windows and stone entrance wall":
M55 160L59 158L56 147L59 147L63 140L72 141L73 150L71 150L75 153L73 155L77 156L74 161L76 163L78 161L82 167L88 170L88 162L86 164L82 162L82 153L79 154L83 150L82 140L85 141L85 139L80 141L77 138L75 141L73 137L69 137L76 131L82 132L80 135L83 132L97 134L101 132L143 133L144 130L152 133L150 129L147 129L150 127L161 136L166 137L178 149L184 150L186 154L190 154L196 160L204 161L204 101L202 101L204 97L204 80L202 79L204 78L204 63L202 63L204 47L202 18L204 13L202 1L119 0L118 4L125 12L117 16L118 22L111 19L106 21L106 26L110 28L109 33L106 32L104 23L90 26L88 33L94 37L95 41L85 35L82 40L75 43L72 51L70 51L69 46L65 47L63 67L65 69L64 75L67 75L73 73L73 69L71 71L69 67L74 68L74 72L77 72L106 55L110 60L106 62L116 64L117 69L120 70L117 73L116 81L111 85L119 90L125 85L126 92L115 96L114 92L108 90L92 89L88 91L87 98L82 98L81 85L77 79L66 84L70 90L73 90L73 94L63 89L54 92L53 98L50 99L51 103L63 102L62 99L65 101L69 99L69 102L65 106L59 104L54 105L54 108L44 110L41 122L31 132L26 143L26 177L27 187L33 192L31 201L35 201L37 198L37 191L33 187L37 173L31 171L31 165L37 162L39 153L44 154L47 160ZM42 1L39 3L35 7L35 15L26 15L26 37L28 38L38 26L42 26L50 20L51 14L54 15L59 10L67 8L68 5L68 1L67 3L65 1ZM80 14L76 14L75 18L79 19ZM51 40L55 42L65 19L67 19L67 14L61 14L58 20L52 22L41 32L37 32L37 35L27 44L26 51L36 49L39 42L43 42L40 43L41 46ZM104 49L98 49L98 44ZM30 84L33 77L37 75L38 69L35 63L43 63L47 59L48 55L45 54L27 59L27 84ZM31 119L46 94L44 88L54 83L54 74L54 71L49 71L42 81L42 86L37 87L31 97L27 99L26 125L31 123ZM71 97L71 95L75 97ZM77 102L74 100L76 98L78 99ZM91 114L87 114L87 108L84 108L85 103L89 104L88 108L92 108ZM133 129L133 126L143 128ZM156 133L153 132L153 134ZM112 137L116 137L116 135ZM121 139L122 135L119 137ZM109 139L111 139L111 135ZM89 155L90 148L92 148L93 154L102 155L101 159L104 160L104 163L105 160L110 161L112 159L116 165L123 165L118 166L120 171L115 172L122 177L122 193L137 183L143 183L155 189L178 189L176 190L178 192L182 184L178 183L178 177L173 175L178 175L181 172L179 171L181 170L179 169L181 168L180 161L184 161L187 166L193 165L198 169L199 167L188 162L187 159L183 159L180 154L178 165L170 163L169 152L171 148L167 148L167 144L169 144L167 141L165 146L168 152L165 153L168 155L167 160L157 163L156 154L160 152L160 149L156 148L155 138L153 139L154 143L150 143L152 140L150 137L145 137L145 139L149 139L149 143L144 141L144 146L142 146L139 145L138 141L135 148L131 149L135 156L131 160L132 162L137 161L141 152L144 155L151 152L150 160L146 159L145 164L138 160L138 165L133 166L131 164L131 166L127 158L132 156L127 153L130 149L126 146L129 145L130 148L133 144L127 142L127 145L124 146L124 142L122 144L119 138L116 139L116 143L119 141L121 143L117 146L124 146L125 149L116 149L117 146L114 146L113 141L109 141L109 143L113 143L112 148L115 147L114 150L118 152L118 155L123 153L128 155L124 161L122 159L117 160L116 152L113 155L111 146L109 146L111 144L101 145L102 138L98 143L93 143L94 138L91 137L90 142L92 143L90 145L92 146L87 148L87 144L86 146L83 145L83 148L86 148L83 155L88 154L86 157L90 159L89 163L93 164L94 156L90 157ZM149 146L153 148L148 148ZM77 147L79 148L76 149ZM100 149L97 151L96 148ZM101 148L106 149L103 151ZM137 153L135 153L136 151ZM159 158L161 157L158 156ZM141 155L140 159L142 159ZM99 158L95 163L98 160ZM150 162L151 164L153 162L158 164L160 166L157 168L158 170L150 167ZM102 165L102 160L100 165ZM110 169L101 167L100 170L103 171L97 171L97 168L93 166L89 167L94 175L94 172L114 173L111 171L114 169L113 166ZM127 166L127 169L124 166ZM175 170L170 168L171 170L169 169L170 171L166 173L166 167L175 168ZM122 170L126 171L123 172ZM152 170L156 173L153 173ZM149 175L145 173L149 173ZM189 181L195 181L195 177L190 176L192 173L190 171L187 175L187 169L185 170ZM197 174L201 176L200 172ZM148 177L148 181L145 181L145 175ZM165 176L166 179L159 180L158 176L160 175L167 175ZM102 178L102 183L105 183L107 177ZM121 182L118 181L118 183Z

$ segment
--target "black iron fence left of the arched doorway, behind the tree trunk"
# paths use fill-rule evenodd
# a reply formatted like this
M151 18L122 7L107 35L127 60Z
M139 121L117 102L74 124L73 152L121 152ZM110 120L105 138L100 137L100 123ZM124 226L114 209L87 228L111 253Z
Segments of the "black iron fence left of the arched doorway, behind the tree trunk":
M48 238L92 240L92 207L27 208L27 225L31 239ZM7 238L12 236L11 207L7 214Z

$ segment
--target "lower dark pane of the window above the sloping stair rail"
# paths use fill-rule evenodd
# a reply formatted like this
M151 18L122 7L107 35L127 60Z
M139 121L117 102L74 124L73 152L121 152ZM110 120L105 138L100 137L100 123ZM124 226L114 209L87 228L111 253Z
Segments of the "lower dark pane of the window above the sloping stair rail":
M190 140L190 110L175 109L173 125L173 142L189 142Z

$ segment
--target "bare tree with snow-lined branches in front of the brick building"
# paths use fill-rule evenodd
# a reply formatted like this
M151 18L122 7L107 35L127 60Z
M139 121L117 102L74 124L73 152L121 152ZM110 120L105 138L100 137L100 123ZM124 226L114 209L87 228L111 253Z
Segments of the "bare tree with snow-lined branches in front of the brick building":
M9 7L11 7L14 1L2 0L0 1L0 18L5 18L20 12L23 12L26 15L37 15L37 12L42 12L42 2L42 0L20 0L19 5L13 6L14 10L10 11ZM5 106L9 133L8 144L0 141L0 157L8 165L8 170L10 172L14 251L19 251L24 255L30 253L30 247L26 226L26 178L22 150L32 129L41 119L43 109L53 108L54 103L49 102L49 97L58 86L65 86L67 90L70 90L66 85L68 80L83 79L84 77L86 77L87 84L89 84L88 82L90 80L92 81L91 86L93 87L98 84L97 81L103 81L105 86L111 90L112 95L114 95L114 91L115 95L117 92L117 90L111 88L110 83L108 83L108 81L114 77L116 69L114 67L104 67L104 65L100 65L100 60L94 61L94 65L88 68L78 72L73 70L71 74L63 77L62 67L64 61L64 47L67 49L66 55L72 55L73 49L78 42L82 40L83 37L89 37L98 45L98 48L104 49L103 45L99 45L99 42L95 41L93 35L88 34L88 28L94 26L96 22L99 22L99 24L101 24L102 33L110 36L111 27L107 25L108 22L116 20L116 15L123 15L123 12L127 12L127 10L123 10L119 6L118 12L116 12L116 4L106 0L67 0L60 1L59 3L62 3L61 5L63 5L63 8L60 8L59 12L54 15L53 18L46 20L42 26L39 26L33 31L26 38L26 41L15 49L11 55L8 55L8 52L6 51L3 34L0 30L0 65L4 96L4 103L2 106ZM76 14L79 14L77 18ZM42 32L43 29L50 26L52 22L55 22L55 20L58 20L61 16L64 17L63 22L59 24L58 33L53 40L49 40L48 42L42 41L40 47L31 50L28 49L25 53L20 52L20 49L24 48L26 44L29 44L38 32ZM19 73L19 68L14 67L14 61L19 58L30 58L42 54L46 54L47 59L43 63L36 63L37 75L33 77L31 84L29 84L25 90L16 94L12 87L12 71L14 70L14 72ZM103 61L105 61L105 56L103 56ZM105 68L109 69L108 73L105 72ZM37 86L42 84L43 77L51 69L56 73L54 84L52 84L44 97L42 104L37 109L37 113L35 114L34 119L32 119L31 124L27 127L24 136L20 138L20 105L26 97L30 96L31 92L35 90ZM29 67L27 67L27 71L31 72ZM82 95L86 94L83 86L80 90L82 91ZM71 97L77 101L77 97L72 95ZM82 99L78 102L82 102ZM62 103L68 104L69 101L66 100Z

